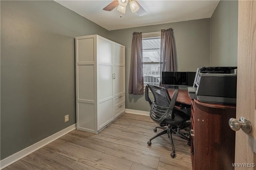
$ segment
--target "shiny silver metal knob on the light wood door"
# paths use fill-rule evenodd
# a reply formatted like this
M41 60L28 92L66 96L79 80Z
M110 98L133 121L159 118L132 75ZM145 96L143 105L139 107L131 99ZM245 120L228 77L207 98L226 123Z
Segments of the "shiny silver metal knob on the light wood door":
M246 117L240 117L239 121L235 118L230 118L228 124L233 131L238 131L240 128L245 133L250 133L252 131L252 124Z

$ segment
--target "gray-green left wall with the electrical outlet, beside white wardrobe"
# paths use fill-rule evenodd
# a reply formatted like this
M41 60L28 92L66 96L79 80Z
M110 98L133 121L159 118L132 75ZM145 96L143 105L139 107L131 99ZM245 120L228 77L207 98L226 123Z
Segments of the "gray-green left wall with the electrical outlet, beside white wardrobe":
M109 31L54 1L1 1L0 19L2 160L76 123L74 37Z

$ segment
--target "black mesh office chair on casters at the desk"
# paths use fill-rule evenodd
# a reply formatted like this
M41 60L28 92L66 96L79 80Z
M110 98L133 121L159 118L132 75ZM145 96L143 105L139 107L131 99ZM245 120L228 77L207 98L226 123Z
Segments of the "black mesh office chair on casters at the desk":
M150 100L148 96L148 88L150 88L154 100ZM160 127L156 127L154 129L154 132L156 132L157 128L163 129L164 131L158 133L148 141L148 146L151 145L151 141L155 139L156 137L159 137L164 134L168 134L168 137L170 138L170 141L172 143L172 150L171 157L175 157L175 149L173 145L172 140L172 132L175 132L176 134L179 134L179 136L183 136L183 134L180 134L180 124L183 122L186 122L190 119L190 117L177 109L174 109L174 105L176 102L178 96L178 90L174 91L174 94L172 96L172 99L169 96L169 93L166 88L159 87L159 86L153 86L148 84L145 89L145 99L149 102L151 109L150 109L150 117L151 119L160 125ZM167 126L167 127L165 127ZM187 137L183 137L186 139Z

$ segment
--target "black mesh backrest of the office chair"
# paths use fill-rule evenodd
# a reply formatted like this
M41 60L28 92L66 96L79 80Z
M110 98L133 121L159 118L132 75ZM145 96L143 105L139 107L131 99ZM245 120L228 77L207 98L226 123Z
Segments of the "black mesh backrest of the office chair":
M150 84L148 84L148 88L150 88L154 96L154 100L151 102L150 117L158 123L161 123L167 117L169 117L170 119L173 118L172 110L174 109L174 105L176 103L178 90L174 91L174 94L171 100L168 90L166 88L159 87L159 86L152 86ZM146 93L145 93L145 96L146 96ZM148 94L147 94L147 98L149 100Z

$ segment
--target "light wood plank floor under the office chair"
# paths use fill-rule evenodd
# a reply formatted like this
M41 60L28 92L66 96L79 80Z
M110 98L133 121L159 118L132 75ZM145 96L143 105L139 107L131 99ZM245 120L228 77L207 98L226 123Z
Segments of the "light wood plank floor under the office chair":
M191 170L187 141L156 133L149 116L125 113L99 134L74 130L4 170ZM158 131L162 131L161 129Z

